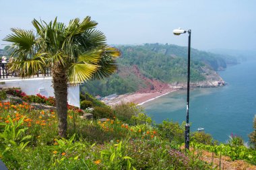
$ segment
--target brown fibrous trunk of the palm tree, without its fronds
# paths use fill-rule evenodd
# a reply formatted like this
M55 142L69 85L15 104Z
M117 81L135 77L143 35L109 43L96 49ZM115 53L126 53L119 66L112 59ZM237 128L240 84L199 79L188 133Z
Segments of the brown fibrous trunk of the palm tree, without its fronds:
M53 68L53 89L59 120L59 136L65 138L67 136L67 76L61 65L55 65Z

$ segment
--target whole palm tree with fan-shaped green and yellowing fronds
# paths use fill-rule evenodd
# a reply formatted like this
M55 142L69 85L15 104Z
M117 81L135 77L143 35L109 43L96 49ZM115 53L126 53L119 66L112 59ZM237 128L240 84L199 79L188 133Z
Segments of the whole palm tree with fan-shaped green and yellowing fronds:
M117 69L115 58L121 53L106 45L104 34L96 30L90 17L69 24L32 21L35 31L11 28L13 34L4 39L12 42L15 59L11 71L22 78L31 77L50 68L59 118L59 136L67 136L67 87L92 79L108 77Z

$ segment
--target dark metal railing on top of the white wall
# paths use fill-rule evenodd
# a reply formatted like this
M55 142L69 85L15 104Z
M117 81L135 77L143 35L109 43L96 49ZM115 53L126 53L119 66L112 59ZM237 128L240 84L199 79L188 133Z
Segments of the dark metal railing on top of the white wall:
M36 73L34 76L39 77L49 77L51 76L51 69L50 68L46 68L46 70L44 71L44 73L41 73L40 71L38 71L38 73ZM0 63L0 79L9 79L10 77L20 77L20 74L16 71L9 71L8 70L8 65L7 63Z

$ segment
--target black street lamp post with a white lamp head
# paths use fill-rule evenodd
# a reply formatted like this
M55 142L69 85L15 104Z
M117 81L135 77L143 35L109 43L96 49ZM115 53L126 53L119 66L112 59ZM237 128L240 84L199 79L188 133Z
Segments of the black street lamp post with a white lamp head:
M185 125L185 148L189 150L189 79L190 79L190 41L191 30L182 30L181 28L173 30L173 34L179 36L181 34L189 33L189 46L187 52L187 122Z

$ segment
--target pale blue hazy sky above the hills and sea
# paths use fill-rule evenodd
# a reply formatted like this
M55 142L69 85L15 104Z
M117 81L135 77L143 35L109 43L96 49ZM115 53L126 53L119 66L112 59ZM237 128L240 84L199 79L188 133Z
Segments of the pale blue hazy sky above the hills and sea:
M0 48L10 28L32 29L34 18L67 24L90 15L108 44L187 46L187 34L172 34L180 27L192 30L191 46L199 50L256 49L254 0L0 0L0 7Z

